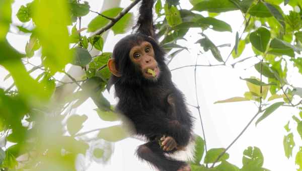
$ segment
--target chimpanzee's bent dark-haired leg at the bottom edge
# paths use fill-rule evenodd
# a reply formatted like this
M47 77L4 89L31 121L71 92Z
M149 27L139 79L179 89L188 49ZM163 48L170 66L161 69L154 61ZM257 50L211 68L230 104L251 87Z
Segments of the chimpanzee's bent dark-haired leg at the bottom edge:
M140 159L148 161L161 171L190 171L190 167L184 161L173 159L164 154L158 141L150 141L142 144L137 149Z

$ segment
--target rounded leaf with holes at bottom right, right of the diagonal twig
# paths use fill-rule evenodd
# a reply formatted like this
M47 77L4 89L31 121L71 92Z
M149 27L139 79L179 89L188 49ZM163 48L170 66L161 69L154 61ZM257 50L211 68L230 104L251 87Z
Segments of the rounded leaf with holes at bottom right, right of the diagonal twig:
M262 167L263 165L263 155L258 147L248 147L243 151L242 158L243 165L254 165L257 167Z

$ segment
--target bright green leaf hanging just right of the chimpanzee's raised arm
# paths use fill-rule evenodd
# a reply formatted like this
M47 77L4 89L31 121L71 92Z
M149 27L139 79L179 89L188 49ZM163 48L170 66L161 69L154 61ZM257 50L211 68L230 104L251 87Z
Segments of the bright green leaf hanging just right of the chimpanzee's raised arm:
M168 24L173 27L182 23L180 13L175 6L168 7L168 3L165 4L165 15Z

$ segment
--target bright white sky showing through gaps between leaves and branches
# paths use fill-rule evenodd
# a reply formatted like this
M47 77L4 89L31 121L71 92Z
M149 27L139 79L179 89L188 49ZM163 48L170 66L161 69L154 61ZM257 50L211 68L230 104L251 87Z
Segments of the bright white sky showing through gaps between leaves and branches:
M15 15L21 5L25 5L29 2L31 1L16 0L13 5L14 23L20 24ZM88 2L93 11L99 11L103 3L103 1L96 0L88 0ZM130 1L124 0L122 1L121 6L126 7L130 3ZM181 0L181 7L183 9L190 9L191 5L188 1ZM204 15L206 14L204 13ZM82 20L83 26L87 26L95 16L95 14L89 14L84 17ZM204 33L215 43L215 45L232 43L233 47L236 31L240 31L241 33L243 29L241 28L243 21L241 13L239 11L224 13L217 18L229 23L232 26L233 33L214 31L205 31ZM198 50L201 49L199 45L194 44L201 38L200 35L197 35L198 32L200 32L200 30L191 29L185 37L188 42L183 40L178 42L188 47L189 52L183 51L180 53L169 65L171 69L187 64L195 64ZM112 51L113 45L123 36L124 35L114 36L113 33L110 32L107 42L105 43L104 51ZM25 44L28 39L28 35L8 34L9 42L21 52L25 51ZM240 59L253 55L250 46L251 45L249 44L246 47L246 50ZM219 50L222 57L225 59L229 55L231 48L224 47ZM217 64L210 52L200 55L198 63L208 64L208 60L211 64ZM40 59L36 56L33 57L31 61L33 63L39 63ZM231 59L229 64L234 61L236 60ZM230 66L197 68L198 99L201 106L201 115L205 126L208 149L228 146L257 112L257 107L251 102L213 104L218 100L236 96L243 97L243 94L248 91L248 88L245 81L239 79L239 77L259 77L259 73L253 67L253 63L256 62L258 62L257 59L250 59L247 62L236 65L235 69ZM297 72L297 70L295 69L294 72ZM292 67L290 67L288 81L296 86L301 85L301 75L295 75L294 72ZM0 80L3 80L7 73L8 72L5 69L0 67ZM185 94L187 102L196 105L194 67L173 71L172 75L174 83ZM10 78L7 81L0 81L0 86L8 88L11 83L12 79ZM110 95L105 93L105 96L111 99L112 104L116 103L112 92ZM77 109L77 114L86 114L89 116L88 121L86 121L85 126L82 129L83 132L118 124L118 122L102 121L93 110L95 108L96 106L94 103L91 100L88 100ZM194 108L190 109L192 115L196 118L194 132L202 135L198 112ZM275 111L267 119L263 120L257 127L255 127L255 124L252 124L244 135L228 151L230 154L230 159L228 161L238 166L242 166L243 150L248 146L257 146L264 155L264 167L280 171L295 170L294 158L288 160L285 157L283 150L283 136L286 134L283 126L290 120L290 128L293 130L296 128L296 124L291 120L292 114L297 114L297 111L283 107ZM301 144L298 134L294 134L294 140L296 144ZM113 157L109 164L101 165L92 162L88 170L152 170L146 163L138 161L134 155L136 147L142 143L143 142L132 138L117 142L115 144ZM294 155L297 150L298 145L294 148Z

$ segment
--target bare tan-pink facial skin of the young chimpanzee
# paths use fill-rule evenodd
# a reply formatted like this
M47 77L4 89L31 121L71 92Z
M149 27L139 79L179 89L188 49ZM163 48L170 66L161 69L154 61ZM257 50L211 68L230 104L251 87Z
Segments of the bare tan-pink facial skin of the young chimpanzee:
M155 59L153 47L149 42L144 41L139 45L132 47L129 56L132 62L140 66L142 75L146 79L158 78L160 69ZM148 72L148 69L153 70L154 74Z

